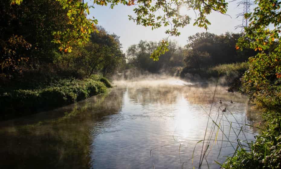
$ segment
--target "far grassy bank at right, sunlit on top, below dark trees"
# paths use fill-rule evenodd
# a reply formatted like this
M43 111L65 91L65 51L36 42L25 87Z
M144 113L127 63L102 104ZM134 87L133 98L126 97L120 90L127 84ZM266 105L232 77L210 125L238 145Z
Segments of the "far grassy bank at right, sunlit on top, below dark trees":
M248 68L249 66L246 62L222 64L209 68L185 67L181 71L180 77L193 81L212 80L220 77L221 85L227 85L229 91L234 91L241 88L240 78Z

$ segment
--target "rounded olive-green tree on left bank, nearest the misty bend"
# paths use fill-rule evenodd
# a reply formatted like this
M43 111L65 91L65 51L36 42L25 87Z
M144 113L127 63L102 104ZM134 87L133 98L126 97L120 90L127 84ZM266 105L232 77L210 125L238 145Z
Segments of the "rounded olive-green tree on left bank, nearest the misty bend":
M99 33L92 33L90 41L75 45L73 52L67 53L58 62L91 76L101 72L103 76L112 74L124 63L119 36L109 35L103 28Z

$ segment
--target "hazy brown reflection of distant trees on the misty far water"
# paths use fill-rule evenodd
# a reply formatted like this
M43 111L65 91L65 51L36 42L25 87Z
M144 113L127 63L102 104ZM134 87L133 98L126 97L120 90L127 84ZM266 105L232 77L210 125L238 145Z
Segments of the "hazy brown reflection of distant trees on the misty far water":
M229 93L226 87L218 86L216 89L214 102L222 100L223 102L239 102L245 103L247 97L240 93ZM169 103L172 104L176 101L177 97L183 97L192 101L194 104L210 104L212 103L215 86L177 86L177 85L159 85L128 88L129 97L137 103Z

